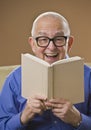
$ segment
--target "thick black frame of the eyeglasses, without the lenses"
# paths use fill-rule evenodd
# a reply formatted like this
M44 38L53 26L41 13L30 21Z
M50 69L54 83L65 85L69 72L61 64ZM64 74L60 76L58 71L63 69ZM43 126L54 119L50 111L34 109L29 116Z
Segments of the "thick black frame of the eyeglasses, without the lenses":
M39 39L39 38L42 38L42 37L48 38L48 40L49 40L49 42L48 42L48 44L47 44L46 46L41 46L41 45L38 44L38 39ZM55 44L55 38L57 38L57 37L63 37L63 38L65 38L65 43L64 43L63 45L57 46L57 45ZM63 46L66 45L66 41L67 41L68 36L55 36L55 37L53 37L53 38L49 38L49 37L47 37L47 36L39 36L39 37L33 37L33 38L35 39L35 41L36 41L36 43L37 43L37 46L42 47L42 48L48 47L51 41L53 42L53 44L54 44L56 47L63 47Z

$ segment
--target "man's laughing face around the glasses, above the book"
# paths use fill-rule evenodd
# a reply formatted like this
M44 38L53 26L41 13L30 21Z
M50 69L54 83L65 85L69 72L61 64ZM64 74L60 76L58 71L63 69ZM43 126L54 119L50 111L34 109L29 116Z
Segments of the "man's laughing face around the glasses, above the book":
M60 21L59 19L53 18L42 18L38 21L35 27L35 36L46 36L49 38L54 38L56 36L67 36L67 25ZM31 38L30 38L31 39ZM56 47L52 41L47 47L39 47L34 39L30 40L32 50L34 54L48 62L49 64L64 59L69 49L68 40L66 45L62 47Z

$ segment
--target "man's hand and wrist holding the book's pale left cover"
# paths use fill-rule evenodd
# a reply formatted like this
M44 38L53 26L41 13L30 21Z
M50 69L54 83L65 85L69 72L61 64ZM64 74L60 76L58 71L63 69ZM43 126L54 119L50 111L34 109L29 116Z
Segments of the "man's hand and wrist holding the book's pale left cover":
M46 98L42 96L31 97L27 100L25 109L21 113L21 123L28 123L35 114L42 114L46 109L45 102Z

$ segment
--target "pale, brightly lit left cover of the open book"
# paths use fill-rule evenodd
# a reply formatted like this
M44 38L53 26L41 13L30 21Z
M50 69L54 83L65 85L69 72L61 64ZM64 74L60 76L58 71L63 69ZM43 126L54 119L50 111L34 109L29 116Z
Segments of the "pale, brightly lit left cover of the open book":
M22 54L22 95L26 98L34 95L51 97L52 82L51 75L48 77L49 72L48 66L40 64L29 55ZM50 94L48 90L50 90Z

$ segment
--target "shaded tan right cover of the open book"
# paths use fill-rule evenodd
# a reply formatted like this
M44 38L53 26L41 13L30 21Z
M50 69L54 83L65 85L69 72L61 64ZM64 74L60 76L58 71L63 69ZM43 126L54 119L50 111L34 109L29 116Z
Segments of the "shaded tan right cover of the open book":
M54 98L64 98L72 103L84 101L83 60L54 66Z

